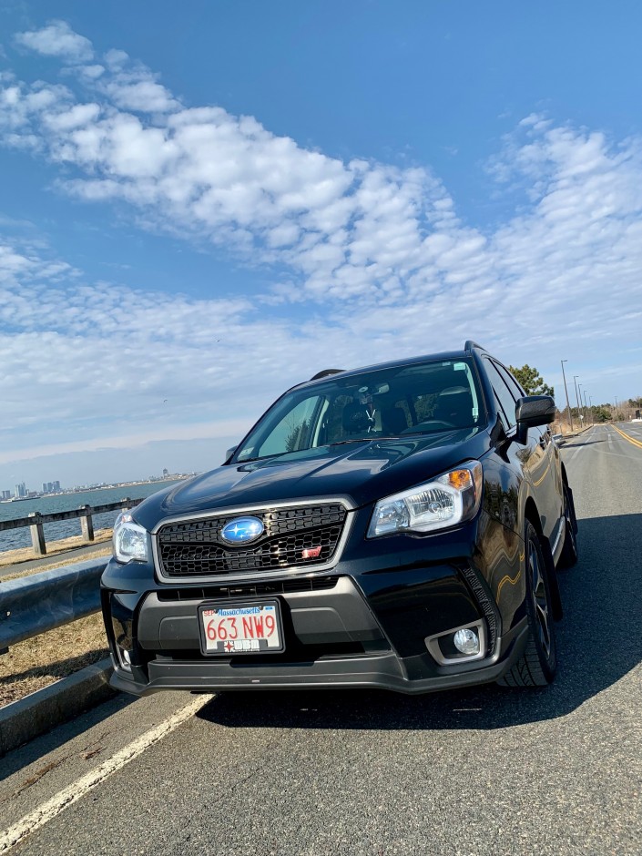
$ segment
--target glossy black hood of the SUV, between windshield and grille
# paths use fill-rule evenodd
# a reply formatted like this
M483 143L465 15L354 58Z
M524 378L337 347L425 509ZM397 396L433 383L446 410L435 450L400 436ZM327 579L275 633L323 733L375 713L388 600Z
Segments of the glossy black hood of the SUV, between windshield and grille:
M486 431L465 429L398 440L307 449L228 464L152 494L133 515L153 528L165 517L219 508L347 496L356 506L420 484L489 448Z

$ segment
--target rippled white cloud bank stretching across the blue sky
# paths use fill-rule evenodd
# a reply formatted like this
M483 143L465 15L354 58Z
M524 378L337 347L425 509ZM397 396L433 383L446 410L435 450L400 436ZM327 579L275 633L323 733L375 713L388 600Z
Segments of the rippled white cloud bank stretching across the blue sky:
M466 338L544 372L558 371L561 356L590 362L639 340L637 138L526 117L490 165L519 204L480 229L458 217L429 168L343 161L254 117L185 107L122 51L76 66L66 82L2 76L0 139L60 165L58 186L77 199L124 201L149 229L273 265L274 287L259 313L242 299L80 284L64 262L5 241L10 372L0 398L18 445L62 442L56 431L96 443L95 423L114 414L127 435L151 421L158 436L175 436L215 422L221 402L250 420L325 362L354 366ZM27 380L46 403L46 426L24 412Z

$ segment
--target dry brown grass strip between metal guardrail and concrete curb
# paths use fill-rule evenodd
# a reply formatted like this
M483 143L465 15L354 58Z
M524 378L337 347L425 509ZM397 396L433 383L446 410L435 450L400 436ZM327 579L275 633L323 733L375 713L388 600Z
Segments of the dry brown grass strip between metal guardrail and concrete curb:
M107 657L102 616L88 616L26 639L0 655L0 707Z

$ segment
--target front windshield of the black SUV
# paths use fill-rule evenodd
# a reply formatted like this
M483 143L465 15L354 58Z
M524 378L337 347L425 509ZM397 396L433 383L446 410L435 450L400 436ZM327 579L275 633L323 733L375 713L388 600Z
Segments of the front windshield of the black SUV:
M473 428L480 395L464 360L335 374L286 393L242 443L233 461L408 434Z

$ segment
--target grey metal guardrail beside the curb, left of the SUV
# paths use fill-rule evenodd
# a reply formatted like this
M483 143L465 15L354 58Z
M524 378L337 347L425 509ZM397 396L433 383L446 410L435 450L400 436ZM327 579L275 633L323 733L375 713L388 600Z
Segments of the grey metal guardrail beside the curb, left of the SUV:
M100 608L100 576L107 561L91 559L0 583L0 654L47 630Z

